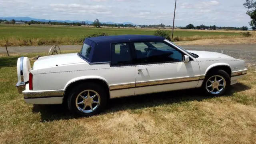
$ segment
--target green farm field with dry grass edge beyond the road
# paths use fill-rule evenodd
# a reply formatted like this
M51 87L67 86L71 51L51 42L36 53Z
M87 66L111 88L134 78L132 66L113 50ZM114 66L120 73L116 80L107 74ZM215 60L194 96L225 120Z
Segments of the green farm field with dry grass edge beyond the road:
M170 33L171 31L168 30ZM83 36L105 32L109 35L142 34L153 35L152 29L135 28L93 28L78 26L28 26L28 25L0 25L0 46L36 46L51 44L81 44ZM174 37L179 40L199 40L210 38L238 38L239 32L175 30Z

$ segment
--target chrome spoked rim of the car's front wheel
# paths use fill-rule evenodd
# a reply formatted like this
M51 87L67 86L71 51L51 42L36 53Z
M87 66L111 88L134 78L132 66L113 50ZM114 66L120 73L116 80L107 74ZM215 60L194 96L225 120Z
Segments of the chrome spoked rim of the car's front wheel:
M220 94L226 87L226 80L222 76L215 75L206 82L206 90L211 94Z

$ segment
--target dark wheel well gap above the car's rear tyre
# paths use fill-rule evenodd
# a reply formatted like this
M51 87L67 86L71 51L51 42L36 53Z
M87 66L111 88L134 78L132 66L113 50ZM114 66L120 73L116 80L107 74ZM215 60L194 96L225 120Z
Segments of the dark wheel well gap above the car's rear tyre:
M107 92L107 96L109 96L109 98L110 98L109 87L108 87L108 84L105 81L99 80L99 79L86 79L86 80L79 80L79 81L76 81L76 82L72 82L71 84L69 84L67 86L65 92L64 92L64 98L63 98L62 103L67 102L70 90L72 90L72 88L74 86L79 85L79 84L83 84L83 83L86 83L86 82L87 83L99 84L100 86L102 86L104 88L104 90Z

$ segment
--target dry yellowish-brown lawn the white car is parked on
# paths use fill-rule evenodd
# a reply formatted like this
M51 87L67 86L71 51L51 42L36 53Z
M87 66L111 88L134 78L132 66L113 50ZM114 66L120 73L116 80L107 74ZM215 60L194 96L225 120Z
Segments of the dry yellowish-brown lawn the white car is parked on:
M120 98L110 100L102 114L77 118L62 105L24 102L14 87L18 57L0 57L1 144L256 142L255 70L232 86L226 96L198 95L195 89Z

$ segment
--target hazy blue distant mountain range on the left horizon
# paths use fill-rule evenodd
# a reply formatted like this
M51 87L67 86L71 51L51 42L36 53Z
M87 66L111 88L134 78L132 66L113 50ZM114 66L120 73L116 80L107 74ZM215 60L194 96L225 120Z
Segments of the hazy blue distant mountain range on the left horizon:
M31 21L31 20L34 20L34 21L40 21L40 22L49 22L49 21L51 21L51 22L68 22L68 23L84 21L87 24L92 24L93 23L92 21L88 21L88 20L46 20L46 19L38 19L38 18L30 18L30 17L14 17L14 16L12 16L12 17L0 17L0 19L9 20L9 21L14 19L16 21L20 21L20 20ZM135 25L132 22L122 22L122 23L105 22L105 23L106 24L132 24L132 25Z

